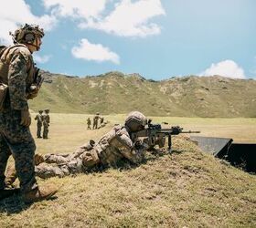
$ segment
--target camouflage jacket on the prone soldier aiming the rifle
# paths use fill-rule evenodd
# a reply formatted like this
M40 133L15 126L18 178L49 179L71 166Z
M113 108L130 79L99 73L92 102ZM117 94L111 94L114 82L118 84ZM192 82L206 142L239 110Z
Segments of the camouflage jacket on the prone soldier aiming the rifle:
M144 159L146 148L146 145L144 145L144 147L136 149L129 132L122 126L115 126L94 146L101 163L110 165L122 158L126 158L133 163L139 163Z

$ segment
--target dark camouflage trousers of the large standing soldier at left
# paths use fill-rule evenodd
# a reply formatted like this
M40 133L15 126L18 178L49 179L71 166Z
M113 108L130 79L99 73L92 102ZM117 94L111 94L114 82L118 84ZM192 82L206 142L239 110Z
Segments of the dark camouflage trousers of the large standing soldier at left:
M37 188L34 154L36 144L29 128L20 125L20 110L0 112L0 188L4 187L5 168L13 155L21 192Z

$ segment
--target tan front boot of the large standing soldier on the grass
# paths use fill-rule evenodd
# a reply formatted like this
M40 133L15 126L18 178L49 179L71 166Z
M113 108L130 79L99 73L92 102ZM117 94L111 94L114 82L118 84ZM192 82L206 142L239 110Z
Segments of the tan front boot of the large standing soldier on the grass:
M39 202L50 199L58 192L54 186L44 186L22 194L22 199L26 203Z

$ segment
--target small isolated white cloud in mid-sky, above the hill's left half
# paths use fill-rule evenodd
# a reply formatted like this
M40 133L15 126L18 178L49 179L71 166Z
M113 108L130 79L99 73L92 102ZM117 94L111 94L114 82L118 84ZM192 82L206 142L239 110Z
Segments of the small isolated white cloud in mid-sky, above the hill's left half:
M73 47L72 55L85 60L97 62L112 61L115 64L120 63L120 58L112 52L108 47L103 47L101 44L91 44L87 39L81 39L78 47Z

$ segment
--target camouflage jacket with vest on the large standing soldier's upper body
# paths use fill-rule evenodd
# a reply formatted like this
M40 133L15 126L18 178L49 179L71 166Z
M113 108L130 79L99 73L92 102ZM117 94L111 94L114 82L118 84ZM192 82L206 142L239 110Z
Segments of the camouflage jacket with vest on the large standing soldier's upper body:
M34 74L33 57L25 45L5 49L0 58L0 81L8 85L11 109L28 109L27 89Z

